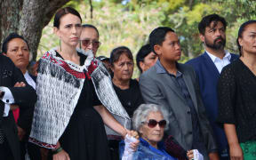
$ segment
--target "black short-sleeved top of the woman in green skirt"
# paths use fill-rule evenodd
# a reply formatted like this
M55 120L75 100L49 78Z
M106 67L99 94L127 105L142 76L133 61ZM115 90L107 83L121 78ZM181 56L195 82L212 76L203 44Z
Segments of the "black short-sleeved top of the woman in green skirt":
M223 68L218 83L220 124L235 124L239 142L256 140L256 76L242 60Z

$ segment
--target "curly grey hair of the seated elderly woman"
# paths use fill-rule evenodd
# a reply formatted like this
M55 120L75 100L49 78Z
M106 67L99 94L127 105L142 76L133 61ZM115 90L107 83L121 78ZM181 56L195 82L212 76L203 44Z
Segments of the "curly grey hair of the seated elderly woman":
M166 121L166 126L164 130L168 129L169 125L169 114L168 111L162 107L158 106L156 104L141 104L139 108L137 108L132 116L132 127L135 131L139 132L140 127L142 126L142 122L146 122L148 115L150 112L161 112L161 114L164 116L164 120Z

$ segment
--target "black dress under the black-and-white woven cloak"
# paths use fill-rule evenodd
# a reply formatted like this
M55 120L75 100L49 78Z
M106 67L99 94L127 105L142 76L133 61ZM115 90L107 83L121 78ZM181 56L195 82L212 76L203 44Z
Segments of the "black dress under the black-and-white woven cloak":
M84 64L84 60L84 55L80 55L80 64ZM102 118L92 107L100 104L92 80L86 77L74 113L60 137L60 146L71 160L110 159Z

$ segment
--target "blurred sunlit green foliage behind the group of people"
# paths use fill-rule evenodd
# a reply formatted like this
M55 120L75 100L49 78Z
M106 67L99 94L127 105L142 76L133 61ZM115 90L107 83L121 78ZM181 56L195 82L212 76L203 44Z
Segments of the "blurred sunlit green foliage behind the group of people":
M226 49L237 52L239 26L246 20L256 20L255 0L92 0L92 19L89 0L73 0L67 6L81 13L83 23L93 24L99 29L101 45L97 56L107 57L116 46L125 45L135 58L154 28L168 26L180 36L183 52L180 62L186 62L204 52L197 25L211 13L218 13L228 21ZM52 26L51 21L43 30L37 59L59 45ZM133 77L139 74L135 68Z

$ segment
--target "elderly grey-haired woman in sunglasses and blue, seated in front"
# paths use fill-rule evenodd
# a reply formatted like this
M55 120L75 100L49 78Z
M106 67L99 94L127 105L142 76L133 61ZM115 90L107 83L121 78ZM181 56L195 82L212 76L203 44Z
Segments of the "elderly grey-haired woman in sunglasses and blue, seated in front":
M164 142L164 130L168 128L168 111L155 104L141 104L132 117L133 129L139 132L140 144L132 151L130 142L136 140L126 137L120 142L120 159L204 159L197 150L185 151L169 136Z

